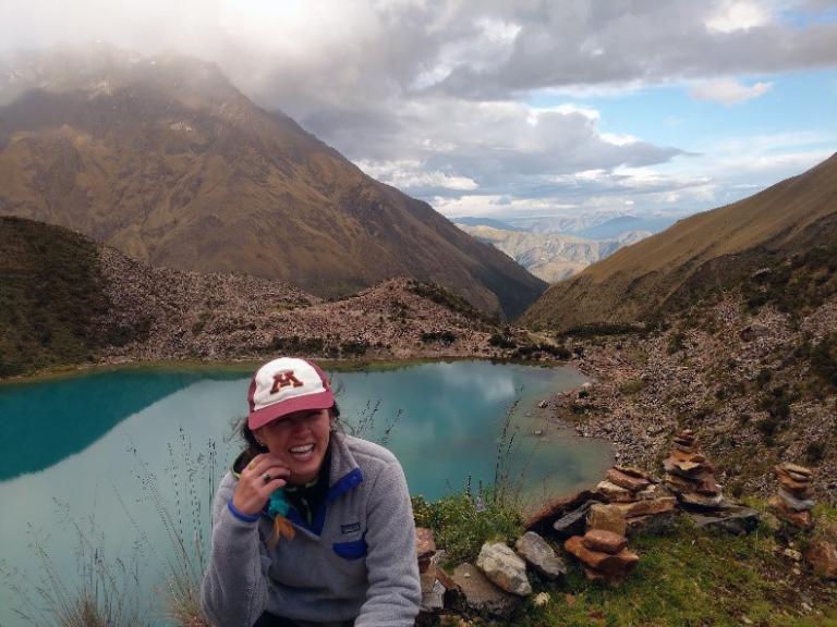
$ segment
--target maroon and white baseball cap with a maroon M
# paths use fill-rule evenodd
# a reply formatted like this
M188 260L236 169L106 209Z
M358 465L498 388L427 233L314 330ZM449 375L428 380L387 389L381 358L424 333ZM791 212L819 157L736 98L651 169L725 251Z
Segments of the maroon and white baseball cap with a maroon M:
M335 404L335 395L326 373L316 364L280 357L256 370L247 403L247 426L258 429L293 411L328 409Z

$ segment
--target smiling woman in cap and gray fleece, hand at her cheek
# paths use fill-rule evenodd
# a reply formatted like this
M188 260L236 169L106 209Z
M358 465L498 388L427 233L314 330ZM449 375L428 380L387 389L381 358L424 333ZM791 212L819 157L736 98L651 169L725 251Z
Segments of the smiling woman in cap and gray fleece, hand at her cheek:
M217 627L408 626L421 599L401 466L335 429L325 373L281 357L250 385L247 448L213 507L201 589Z

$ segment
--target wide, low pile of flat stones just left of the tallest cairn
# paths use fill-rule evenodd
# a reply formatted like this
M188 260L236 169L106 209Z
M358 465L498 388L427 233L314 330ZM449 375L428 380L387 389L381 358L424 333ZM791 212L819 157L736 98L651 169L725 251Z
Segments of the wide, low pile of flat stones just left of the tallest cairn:
M626 531L648 530L670 524L677 500L652 476L624 466L614 466L596 487L596 494L618 509L626 521ZM592 513L587 514L587 528ZM610 529L614 530L614 529Z

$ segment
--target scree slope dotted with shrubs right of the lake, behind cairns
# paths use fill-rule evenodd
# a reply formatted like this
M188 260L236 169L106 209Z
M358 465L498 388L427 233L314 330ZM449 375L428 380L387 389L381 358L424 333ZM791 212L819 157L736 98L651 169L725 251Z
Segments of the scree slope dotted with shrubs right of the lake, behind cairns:
M698 432L727 493L766 496L773 467L815 469L818 496L837 502L837 249L798 266L784 290L730 291L654 331L594 329L571 346L596 382L559 396L556 415L607 438L622 463L658 465L682 428ZM811 258L816 257L812 254ZM812 299L800 285L817 285ZM826 280L823 280L826 278ZM786 294L797 296L785 299ZM612 331L615 334L606 334Z

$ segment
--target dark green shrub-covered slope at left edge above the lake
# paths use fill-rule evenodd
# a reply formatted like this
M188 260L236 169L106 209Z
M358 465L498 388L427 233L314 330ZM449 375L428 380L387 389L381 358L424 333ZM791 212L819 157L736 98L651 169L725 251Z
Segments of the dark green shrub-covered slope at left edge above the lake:
M110 308L90 239L0 218L0 378L93 359L107 344L144 339L150 322L102 329Z

